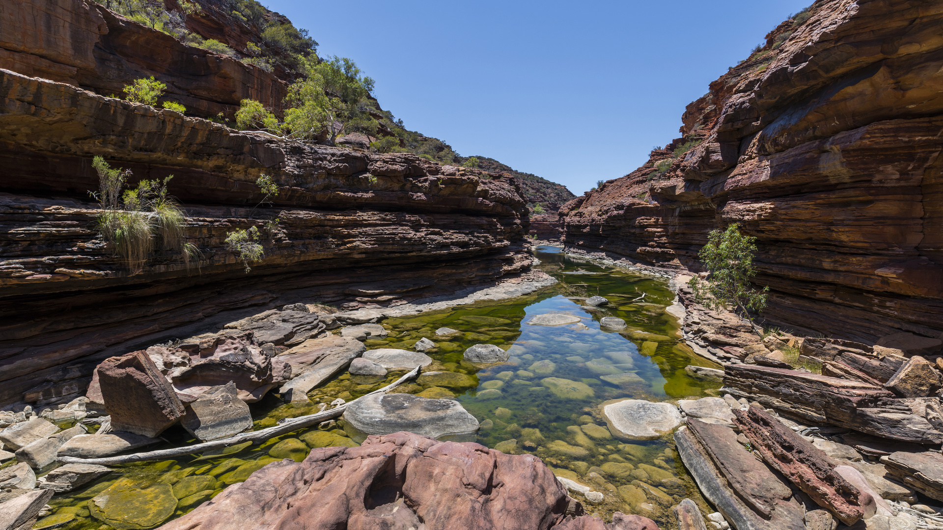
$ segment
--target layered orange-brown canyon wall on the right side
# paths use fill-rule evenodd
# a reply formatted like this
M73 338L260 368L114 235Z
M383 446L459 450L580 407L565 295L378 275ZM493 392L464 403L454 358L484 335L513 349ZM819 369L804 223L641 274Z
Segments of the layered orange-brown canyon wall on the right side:
M817 1L688 106L681 139L563 207L565 241L697 271L707 233L737 223L769 324L937 338L941 23L940 1Z

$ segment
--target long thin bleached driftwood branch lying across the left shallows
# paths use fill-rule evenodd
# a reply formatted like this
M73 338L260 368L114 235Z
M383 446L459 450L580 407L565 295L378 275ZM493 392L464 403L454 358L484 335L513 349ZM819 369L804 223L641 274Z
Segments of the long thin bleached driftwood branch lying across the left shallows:
M144 462L148 460L166 460L169 458L175 458L179 456L192 455L194 453L203 453L204 451L209 451L212 449L222 449L223 447L228 447L235 445L237 443L244 443L246 441L251 441L253 444L260 444L265 442L268 439L273 439L276 436L281 436L288 434L292 431L297 431L298 429L303 429L311 425L316 425L325 420L330 420L332 418L337 418L343 414L347 406L350 406L356 401L364 399L367 396L373 394L379 394L388 392L391 389L399 387L409 379L419 375L420 367L416 367L405 373L403 377L400 377L396 381L390 383L386 387L378 390L373 390L369 394L358 397L356 400L345 403L343 405L336 406L329 410L324 410L323 412L318 412L316 414L308 414L307 416L299 416L297 418L285 418L279 421L279 424L269 427L267 429L262 429L260 431L250 431L247 433L241 433L236 436L227 438L227 439L217 439L215 441L207 441L206 443L196 443L193 445L185 445L183 447L174 447L173 449L162 449L159 451L148 451L146 453L135 453L133 455L120 455L120 456L107 456L104 458L76 458L74 456L59 456L56 460L58 462L63 462L67 464L98 464L101 466L115 466L119 464L127 464L130 462Z

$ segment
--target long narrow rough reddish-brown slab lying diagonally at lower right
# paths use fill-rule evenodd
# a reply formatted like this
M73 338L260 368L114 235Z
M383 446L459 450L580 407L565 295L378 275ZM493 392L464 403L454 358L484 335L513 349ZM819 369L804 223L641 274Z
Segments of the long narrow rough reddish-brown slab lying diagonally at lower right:
M734 421L773 469L851 526L874 515L874 499L836 473L836 462L760 406L734 410Z

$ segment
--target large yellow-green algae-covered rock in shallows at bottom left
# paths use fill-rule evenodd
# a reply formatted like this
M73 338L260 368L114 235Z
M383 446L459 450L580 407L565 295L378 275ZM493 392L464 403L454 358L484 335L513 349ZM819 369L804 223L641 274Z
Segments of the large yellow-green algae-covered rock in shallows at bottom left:
M174 488L120 478L89 501L91 517L119 530L145 530L167 521L176 509Z

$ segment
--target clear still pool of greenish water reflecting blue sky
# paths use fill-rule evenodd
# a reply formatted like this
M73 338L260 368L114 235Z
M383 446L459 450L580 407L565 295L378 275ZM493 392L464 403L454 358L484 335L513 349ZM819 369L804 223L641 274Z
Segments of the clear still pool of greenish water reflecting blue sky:
M387 319L389 336L367 340L367 348L403 348L422 338L437 343L434 362L414 383L397 391L430 398L456 399L481 422L474 440L505 453L538 455L558 476L604 493L601 504L585 502L587 513L609 520L615 511L637 513L661 528L676 527L670 507L690 497L707 509L687 475L669 437L631 441L612 436L601 405L623 398L669 401L718 395L719 383L690 377L687 365L713 366L681 342L679 325L665 307L673 293L660 279L596 265L582 257L538 247L539 267L559 283L528 296L479 303L415 317ZM641 298L644 294L644 298ZM581 304L600 295L607 306ZM533 325L541 314L563 313L579 323ZM615 331L600 319L615 316L627 324ZM440 327L458 331L442 340ZM511 358L481 369L465 361L466 348L491 343ZM317 404L351 400L397 379L403 372L365 377L343 373L308 393L314 406L284 405L268 396L253 405L255 429L281 418L317 411ZM562 381L562 382L561 382ZM312 447L356 445L365 436L339 421L272 439L261 446L228 448L224 455L193 457L118 468L91 486L57 495L54 514L38 528L70 530L151 528L179 517L249 474L279 458L303 459ZM185 434L165 435L175 444ZM108 490L108 509L90 502ZM709 513L711 510L708 510ZM104 525L103 525L104 524Z

